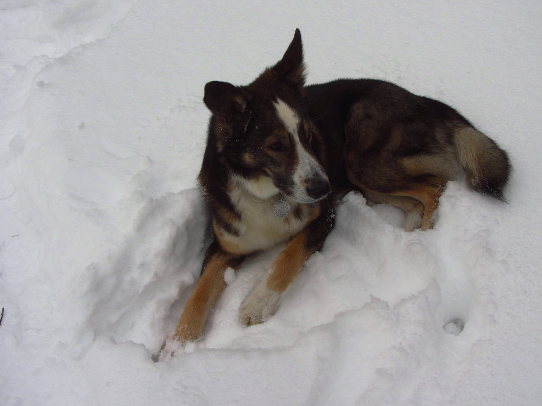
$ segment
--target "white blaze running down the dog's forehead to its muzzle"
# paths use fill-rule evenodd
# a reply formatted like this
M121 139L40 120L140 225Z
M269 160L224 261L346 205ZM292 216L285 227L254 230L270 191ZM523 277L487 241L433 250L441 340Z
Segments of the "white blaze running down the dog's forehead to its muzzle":
M283 125L286 127L288 133L292 136L294 141L294 148L298 155L298 166L294 171L292 179L294 181L294 189L292 198L299 203L311 203L314 201L306 191L306 180L313 177L320 177L327 179L327 176L322 171L320 163L315 160L311 154L307 152L305 147L299 140L298 128L299 117L294 110L288 106L285 102L277 99L273 103L275 105L276 113Z

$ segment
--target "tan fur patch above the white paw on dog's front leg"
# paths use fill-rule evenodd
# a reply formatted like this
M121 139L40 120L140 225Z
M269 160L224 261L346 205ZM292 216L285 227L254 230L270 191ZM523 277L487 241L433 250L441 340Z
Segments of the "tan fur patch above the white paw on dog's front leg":
M309 253L305 250L305 240L308 231L301 231L289 242L288 246L276 257L272 268L273 273L267 280L267 288L277 293L282 293L298 275L299 270L305 264Z

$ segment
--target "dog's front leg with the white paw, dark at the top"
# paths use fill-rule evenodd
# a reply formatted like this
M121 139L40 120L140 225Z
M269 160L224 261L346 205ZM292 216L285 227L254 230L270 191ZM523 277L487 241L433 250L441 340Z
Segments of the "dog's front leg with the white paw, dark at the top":
M241 324L262 323L274 315L282 293L293 282L307 258L324 244L333 228L333 217L330 207L326 214L320 215L288 243L241 304Z

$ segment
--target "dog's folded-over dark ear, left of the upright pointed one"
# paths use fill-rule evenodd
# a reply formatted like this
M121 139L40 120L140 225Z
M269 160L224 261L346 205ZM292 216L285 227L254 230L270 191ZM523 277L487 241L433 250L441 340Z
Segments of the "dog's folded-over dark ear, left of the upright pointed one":
M203 102L211 113L230 118L244 113L247 108L247 94L228 82L209 82L205 85Z

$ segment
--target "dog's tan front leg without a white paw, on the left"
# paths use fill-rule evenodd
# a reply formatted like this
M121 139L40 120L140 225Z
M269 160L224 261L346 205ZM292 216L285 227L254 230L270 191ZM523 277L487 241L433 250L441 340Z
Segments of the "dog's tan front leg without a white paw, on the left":
M182 343L193 341L203 333L207 315L225 287L224 271L237 268L243 257L224 251L215 240L208 248L203 261L202 275L180 317L173 339Z

